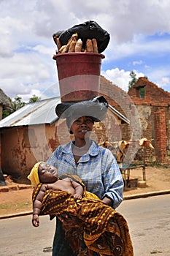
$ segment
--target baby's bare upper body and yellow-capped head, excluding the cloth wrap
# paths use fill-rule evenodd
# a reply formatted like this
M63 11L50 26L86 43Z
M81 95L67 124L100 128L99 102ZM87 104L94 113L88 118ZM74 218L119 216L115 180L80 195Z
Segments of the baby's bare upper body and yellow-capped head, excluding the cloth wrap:
M28 179L31 181L32 185L42 183L33 205L32 224L34 227L39 226L39 214L42 208L42 200L48 189L61 189L71 193L75 200L82 199L84 190L82 185L69 176L65 175L61 177L62 179L58 177L58 170L53 165L48 165L46 162L36 163L31 173L28 175Z

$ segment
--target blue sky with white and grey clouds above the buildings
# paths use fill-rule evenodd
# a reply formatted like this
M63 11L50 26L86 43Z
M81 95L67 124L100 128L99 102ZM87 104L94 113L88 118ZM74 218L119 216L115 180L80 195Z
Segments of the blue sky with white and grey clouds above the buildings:
M0 88L56 97L53 34L94 20L110 34L101 75L128 91L130 72L170 92L170 0L0 0Z

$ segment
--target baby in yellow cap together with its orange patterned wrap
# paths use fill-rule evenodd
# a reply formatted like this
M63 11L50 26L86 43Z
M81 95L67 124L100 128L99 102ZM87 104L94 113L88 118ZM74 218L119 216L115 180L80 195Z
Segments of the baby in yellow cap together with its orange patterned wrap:
M28 175L33 192L34 227L39 226L39 215L58 217L66 233L83 234L89 249L101 255L133 256L128 225L123 216L87 192L78 176L63 174L46 162L38 162ZM66 223L65 223L66 222ZM123 252L125 250L125 253Z

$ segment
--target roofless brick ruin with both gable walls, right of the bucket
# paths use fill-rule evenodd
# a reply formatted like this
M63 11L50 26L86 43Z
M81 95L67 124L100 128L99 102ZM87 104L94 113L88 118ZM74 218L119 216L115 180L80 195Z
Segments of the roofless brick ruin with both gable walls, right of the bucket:
M147 148L146 159L156 159L162 164L170 162L170 93L147 78L139 78L129 89L129 97L125 91L102 76L100 86L101 94L107 98L109 104L132 123L133 111L137 110L141 123L141 138L152 140L155 147L154 151ZM141 94L142 88L144 94ZM131 139L132 128L128 124L120 124L123 140Z

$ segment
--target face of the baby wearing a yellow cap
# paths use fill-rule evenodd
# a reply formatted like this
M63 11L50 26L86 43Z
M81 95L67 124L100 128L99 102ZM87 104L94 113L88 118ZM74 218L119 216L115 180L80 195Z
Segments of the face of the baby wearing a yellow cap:
M39 180L42 183L53 183L58 180L58 170L46 162L39 165Z

